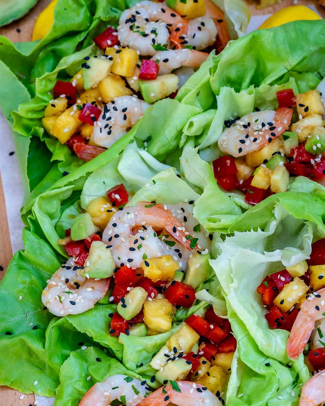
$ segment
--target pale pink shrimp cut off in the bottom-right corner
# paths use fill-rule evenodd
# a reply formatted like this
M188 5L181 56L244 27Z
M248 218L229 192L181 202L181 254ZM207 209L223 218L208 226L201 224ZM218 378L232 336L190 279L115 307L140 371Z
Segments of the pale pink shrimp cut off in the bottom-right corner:
M325 402L325 371L320 371L303 386L299 406L317 406L323 402Z

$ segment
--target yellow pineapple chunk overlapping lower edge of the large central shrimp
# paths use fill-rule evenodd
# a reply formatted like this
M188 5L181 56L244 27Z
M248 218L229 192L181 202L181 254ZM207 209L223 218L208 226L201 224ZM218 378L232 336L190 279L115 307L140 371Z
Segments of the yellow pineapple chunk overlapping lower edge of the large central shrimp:
M141 268L147 278L157 282L171 281L180 266L171 255L163 255L160 258L145 259L141 262Z

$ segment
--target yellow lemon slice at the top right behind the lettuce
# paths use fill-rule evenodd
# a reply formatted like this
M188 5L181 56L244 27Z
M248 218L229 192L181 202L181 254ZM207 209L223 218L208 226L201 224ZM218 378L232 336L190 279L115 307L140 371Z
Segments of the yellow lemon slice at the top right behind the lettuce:
M296 20L319 20L317 13L306 6L289 6L277 11L269 17L259 28L278 27Z

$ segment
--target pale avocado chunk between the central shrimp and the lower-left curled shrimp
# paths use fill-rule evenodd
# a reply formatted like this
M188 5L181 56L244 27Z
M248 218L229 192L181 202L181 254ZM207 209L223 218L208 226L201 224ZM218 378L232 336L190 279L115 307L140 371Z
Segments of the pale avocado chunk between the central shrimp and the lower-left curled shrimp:
M106 248L104 242L93 241L85 261L85 268L80 270L80 275L88 274L89 278L109 278L113 275L114 269L115 261L111 250Z

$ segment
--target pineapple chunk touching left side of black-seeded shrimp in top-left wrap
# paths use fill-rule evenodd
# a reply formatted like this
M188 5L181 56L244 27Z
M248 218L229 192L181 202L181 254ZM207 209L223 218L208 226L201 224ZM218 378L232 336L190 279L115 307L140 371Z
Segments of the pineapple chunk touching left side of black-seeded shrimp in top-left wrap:
M51 131L61 144L66 143L81 127L82 122L78 120L78 113L78 110L74 111L73 107L70 107L55 120Z

